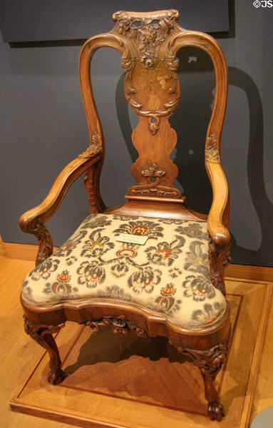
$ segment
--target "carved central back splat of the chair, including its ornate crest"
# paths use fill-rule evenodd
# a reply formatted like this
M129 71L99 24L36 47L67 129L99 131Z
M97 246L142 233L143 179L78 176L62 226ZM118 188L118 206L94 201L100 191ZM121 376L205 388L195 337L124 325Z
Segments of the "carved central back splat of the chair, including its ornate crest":
M176 146L177 135L168 121L180 99L180 85L174 71L178 60L168 45L177 28L177 17L177 11L149 16L121 11L113 16L117 22L113 34L118 34L125 46L121 62L127 71L125 97L140 118L132 134L139 157L132 165L136 184L128 189L129 197L184 200L173 185L178 170L170 160L170 153ZM163 173L144 173L155 169Z

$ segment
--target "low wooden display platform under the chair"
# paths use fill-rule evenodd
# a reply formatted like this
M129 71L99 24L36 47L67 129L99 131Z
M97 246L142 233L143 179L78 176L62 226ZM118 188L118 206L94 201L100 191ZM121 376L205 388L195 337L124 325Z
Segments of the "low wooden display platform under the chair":
M217 381L227 410L222 422L207 419L200 372L164 337L145 340L108 330L91 336L88 327L72 323L57 337L68 377L58 386L48 384L44 355L11 408L80 427L247 427L271 285L227 280L227 292L233 332Z

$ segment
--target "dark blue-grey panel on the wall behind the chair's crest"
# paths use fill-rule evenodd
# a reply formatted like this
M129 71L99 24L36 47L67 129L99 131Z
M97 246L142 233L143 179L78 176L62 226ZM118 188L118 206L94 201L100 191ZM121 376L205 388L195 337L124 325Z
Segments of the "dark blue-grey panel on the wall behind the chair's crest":
M1 0L0 28L9 43L88 39L113 28L115 11L155 7L180 11L186 29L229 31L227 0Z

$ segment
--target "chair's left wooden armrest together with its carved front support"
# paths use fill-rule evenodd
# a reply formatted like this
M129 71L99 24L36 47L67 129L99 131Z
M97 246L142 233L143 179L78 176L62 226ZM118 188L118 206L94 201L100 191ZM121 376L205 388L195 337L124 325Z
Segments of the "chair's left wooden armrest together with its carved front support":
M85 152L68 163L66 168L61 171L43 202L21 215L19 219L21 230L34 234L38 240L36 265L48 258L53 251L51 235L43 223L56 212L73 182L91 165L98 162L100 153L101 147L94 149L89 146Z

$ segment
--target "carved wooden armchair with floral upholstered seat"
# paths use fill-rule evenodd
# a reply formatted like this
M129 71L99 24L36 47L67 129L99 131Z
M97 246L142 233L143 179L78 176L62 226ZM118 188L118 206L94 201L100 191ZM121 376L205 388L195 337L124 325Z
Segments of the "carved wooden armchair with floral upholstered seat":
M220 158L227 66L217 42L182 29L178 16L175 10L119 11L113 14L112 31L83 45L79 73L90 146L58 175L41 205L21 216L21 229L38 239L36 267L23 282L21 303L26 332L49 352L51 384L66 376L52 335L66 320L92 331L110 327L143 337L166 336L200 367L208 415L221 420L224 410L214 380L230 335L223 280L230 254L229 195ZM139 155L132 166L136 183L128 189L127 202L112 208L105 207L99 190L105 146L89 76L93 53L101 46L121 54L125 97L139 117L132 136ZM173 185L177 166L170 153L177 136L169 118L180 99L175 55L183 46L203 49L215 67L215 103L205 142L213 190L209 215L187 208ZM52 254L43 223L83 173L91 215Z

